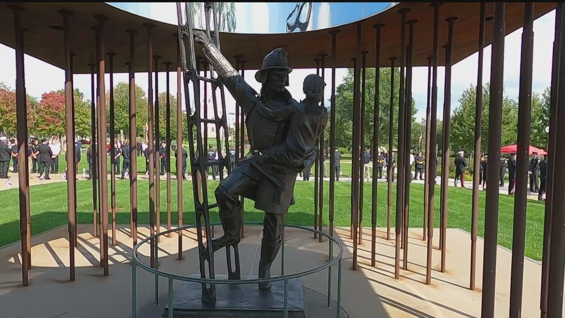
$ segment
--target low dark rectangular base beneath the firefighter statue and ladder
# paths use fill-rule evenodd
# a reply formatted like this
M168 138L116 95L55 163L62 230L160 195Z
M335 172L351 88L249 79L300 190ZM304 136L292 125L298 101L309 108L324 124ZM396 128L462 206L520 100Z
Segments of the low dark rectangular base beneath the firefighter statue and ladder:
M192 274L190 277L199 277ZM227 280L225 275L216 279ZM244 276L250 280L257 277ZM257 284L216 285L216 303L204 304L202 285L184 282L173 295L173 317L177 318L270 318L282 317L284 310L284 281L272 282L270 291L261 291ZM288 284L289 318L306 318L302 282L299 278ZM168 317L168 306L163 317Z

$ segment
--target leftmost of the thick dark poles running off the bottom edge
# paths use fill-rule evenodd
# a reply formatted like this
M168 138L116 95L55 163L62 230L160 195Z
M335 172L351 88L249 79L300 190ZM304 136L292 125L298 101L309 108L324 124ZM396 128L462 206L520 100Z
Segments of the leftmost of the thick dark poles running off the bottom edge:
M483 256L483 297L481 317L494 317L496 255L498 239L498 179L502 135L502 89L504 38L506 35L505 3L494 3L492 57L490 59L489 160L486 168L485 235ZM563 267L561 268L563 272ZM563 282L562 282L563 283Z

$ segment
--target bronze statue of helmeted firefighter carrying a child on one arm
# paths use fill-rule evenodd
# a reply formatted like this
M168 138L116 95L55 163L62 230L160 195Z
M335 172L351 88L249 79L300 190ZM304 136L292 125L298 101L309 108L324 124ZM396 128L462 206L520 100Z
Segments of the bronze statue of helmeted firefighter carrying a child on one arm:
M294 204L294 182L299 171L314 163L315 142L327 122L327 112L319 106L324 83L317 75L309 76L305 80L307 97L301 103L295 101L285 88L292 72L288 53L280 48L267 54L255 74L262 83L257 94L205 33L195 31L194 38L204 46L208 62L245 111L253 154L216 188L224 235L212 241L212 250L240 242L242 214L238 196L254 200L255 208L265 212L258 276L271 277L271 264L281 246L281 222ZM259 289L270 290L271 283L260 283Z

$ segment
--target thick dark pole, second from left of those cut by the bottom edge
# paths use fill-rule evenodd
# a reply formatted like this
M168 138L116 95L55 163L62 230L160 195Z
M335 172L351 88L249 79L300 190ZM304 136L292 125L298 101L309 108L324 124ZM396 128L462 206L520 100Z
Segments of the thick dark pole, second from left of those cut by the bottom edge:
M526 209L528 205L528 149L530 123L532 121L533 12L534 3L525 2L518 94L518 149L516 149L516 177L518 178L515 181L514 231L510 272L511 318L521 318L522 311Z

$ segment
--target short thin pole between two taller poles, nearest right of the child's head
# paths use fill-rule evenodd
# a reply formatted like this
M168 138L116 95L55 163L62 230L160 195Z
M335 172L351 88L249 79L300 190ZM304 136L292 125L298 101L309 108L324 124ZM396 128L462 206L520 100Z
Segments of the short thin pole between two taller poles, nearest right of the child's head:
M361 108L360 108L360 127L359 127L359 212L358 212L358 235L359 235L359 245L363 245L363 199L364 199L364 178L365 178L365 83L367 78L366 63L367 63L367 53L369 51L361 51Z

